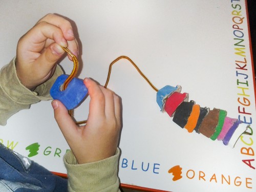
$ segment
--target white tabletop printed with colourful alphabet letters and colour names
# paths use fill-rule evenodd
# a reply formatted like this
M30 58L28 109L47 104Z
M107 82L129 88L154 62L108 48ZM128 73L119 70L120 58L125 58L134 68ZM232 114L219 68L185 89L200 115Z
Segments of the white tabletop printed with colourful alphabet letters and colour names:
M255 126L245 1L0 1L0 13L1 67L15 56L19 37L42 16L57 13L77 27L80 78L104 84L110 62L126 55L158 89L179 84L189 100ZM71 61L60 65L70 74ZM113 66L108 88L122 98L121 183L167 191L255 190L255 134L243 135L231 149L181 129L160 112L156 92L126 60ZM243 97L248 106L238 102ZM77 120L86 119L88 102L75 111ZM69 146L50 101L13 115L0 127L0 142L25 156L26 147L38 143L31 159L66 173L62 157ZM176 165L182 178L173 181L168 170Z

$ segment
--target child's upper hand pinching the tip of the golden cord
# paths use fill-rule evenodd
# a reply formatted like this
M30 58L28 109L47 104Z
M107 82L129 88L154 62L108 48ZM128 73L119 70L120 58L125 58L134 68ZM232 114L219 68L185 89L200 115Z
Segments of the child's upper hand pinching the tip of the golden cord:
M47 81L54 73L56 61L69 49L77 56L77 42L68 20L55 14L41 18L23 35L17 45L16 70L28 89Z

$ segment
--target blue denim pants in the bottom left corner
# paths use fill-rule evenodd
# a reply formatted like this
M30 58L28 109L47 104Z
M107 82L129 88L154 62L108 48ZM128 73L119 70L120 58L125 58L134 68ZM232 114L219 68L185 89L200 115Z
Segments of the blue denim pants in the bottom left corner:
M65 192L67 180L0 143L1 192Z

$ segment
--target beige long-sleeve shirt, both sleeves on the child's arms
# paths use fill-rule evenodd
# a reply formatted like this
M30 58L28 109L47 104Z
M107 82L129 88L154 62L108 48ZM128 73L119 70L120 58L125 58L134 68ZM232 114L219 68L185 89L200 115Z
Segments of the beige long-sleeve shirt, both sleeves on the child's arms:
M20 83L15 68L15 58L0 71L0 124L6 125L7 119L31 104L41 100L50 100L50 89L55 79L62 74L57 66L54 75L34 91L30 91ZM68 189L74 192L116 192L119 190L117 166L120 151L101 161L77 164L69 151L63 158L68 172Z

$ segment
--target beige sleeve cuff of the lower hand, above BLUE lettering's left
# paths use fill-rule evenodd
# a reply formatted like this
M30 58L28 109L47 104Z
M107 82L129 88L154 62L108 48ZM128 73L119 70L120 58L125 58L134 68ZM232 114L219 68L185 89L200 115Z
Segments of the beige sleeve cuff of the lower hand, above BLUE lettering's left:
M77 164L71 151L64 156L64 163L68 171L68 190L70 192L120 192L118 159L120 150L116 154L101 161Z

